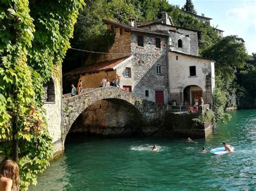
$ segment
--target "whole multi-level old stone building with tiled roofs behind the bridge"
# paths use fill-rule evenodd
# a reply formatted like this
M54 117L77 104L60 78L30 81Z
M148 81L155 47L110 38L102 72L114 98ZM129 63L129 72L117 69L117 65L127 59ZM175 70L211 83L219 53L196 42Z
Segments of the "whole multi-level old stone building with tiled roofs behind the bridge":
M165 12L147 22L131 19L130 25L103 21L115 34L110 54L65 76L80 75L85 88L98 88L105 76L111 80L117 74L122 77L120 88L144 100L193 104L203 97L212 103L214 61L198 56L201 31L174 26Z

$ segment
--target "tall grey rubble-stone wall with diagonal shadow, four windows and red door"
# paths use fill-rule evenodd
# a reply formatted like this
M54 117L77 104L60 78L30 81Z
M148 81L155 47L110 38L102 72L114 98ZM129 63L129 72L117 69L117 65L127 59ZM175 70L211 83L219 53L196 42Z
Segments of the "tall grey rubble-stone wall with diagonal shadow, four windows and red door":
M144 47L138 46L138 35L144 37ZM156 48L156 37L161 39L161 48ZM167 37L133 32L131 52L134 55L133 93L145 100L155 102L155 91L164 91L164 103L167 103L169 99ZM157 66L161 66L160 74L157 74ZM149 96L145 95L145 90L149 90Z

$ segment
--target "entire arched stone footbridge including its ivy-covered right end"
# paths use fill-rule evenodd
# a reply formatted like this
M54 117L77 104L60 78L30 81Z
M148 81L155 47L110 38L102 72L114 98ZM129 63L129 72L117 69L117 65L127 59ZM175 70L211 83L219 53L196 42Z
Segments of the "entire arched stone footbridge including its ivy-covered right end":
M83 94L73 97L66 94L63 96L63 144L78 116L90 105L102 100L115 102L120 107L127 108L129 112L134 113L132 117L140 117L144 125L150 125L155 119L159 119L166 110L166 105L142 100L142 98L116 87L86 89Z

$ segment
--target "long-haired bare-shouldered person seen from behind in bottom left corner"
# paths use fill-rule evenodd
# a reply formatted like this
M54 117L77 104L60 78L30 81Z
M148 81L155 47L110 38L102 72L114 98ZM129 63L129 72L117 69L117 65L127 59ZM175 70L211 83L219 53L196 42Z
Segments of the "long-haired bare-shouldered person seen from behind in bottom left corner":
M0 190L19 190L19 167L14 160L5 160L0 167Z

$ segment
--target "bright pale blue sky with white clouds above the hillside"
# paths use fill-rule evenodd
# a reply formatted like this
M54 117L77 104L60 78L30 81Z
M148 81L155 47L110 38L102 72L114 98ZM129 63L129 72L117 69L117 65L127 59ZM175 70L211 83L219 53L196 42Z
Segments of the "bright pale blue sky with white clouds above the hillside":
M168 0L180 8L186 0ZM237 35L245 40L248 54L256 53L256 0L192 0L197 15L212 18L211 25L224 36Z

